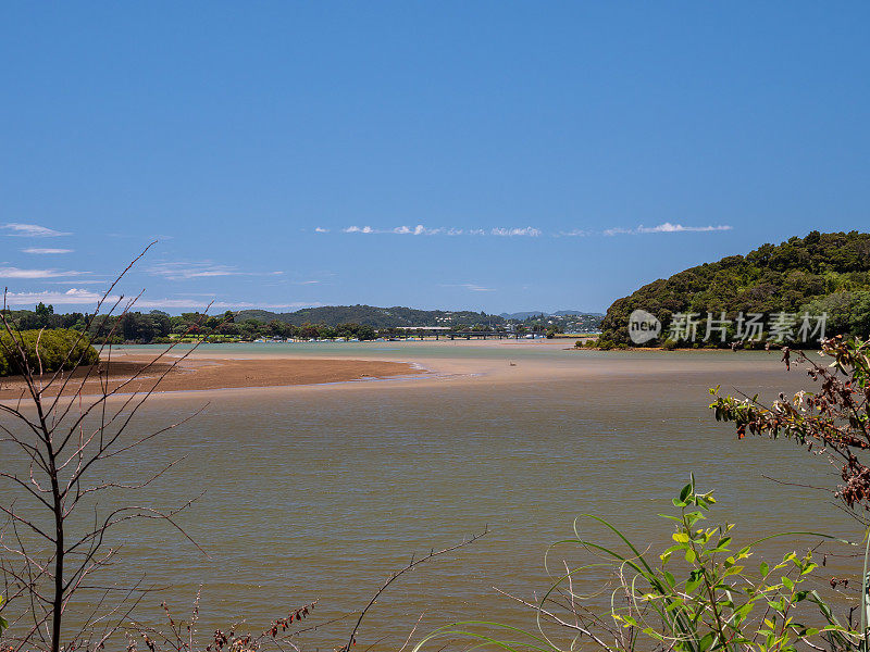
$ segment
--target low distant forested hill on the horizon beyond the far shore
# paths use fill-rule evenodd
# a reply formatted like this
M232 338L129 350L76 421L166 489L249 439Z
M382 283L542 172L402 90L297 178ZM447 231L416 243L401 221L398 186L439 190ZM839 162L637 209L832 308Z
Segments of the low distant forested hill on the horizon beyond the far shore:
M277 319L294 326L302 324L324 324L338 326L339 324L363 324L374 328L390 328L395 326L451 326L453 324L505 324L505 318L499 315L487 315L483 312L444 310L417 310L413 308L375 308L374 305L324 305L321 308L304 308L290 313L273 313L265 310L246 310L236 316L237 322L245 319L259 319L271 322Z

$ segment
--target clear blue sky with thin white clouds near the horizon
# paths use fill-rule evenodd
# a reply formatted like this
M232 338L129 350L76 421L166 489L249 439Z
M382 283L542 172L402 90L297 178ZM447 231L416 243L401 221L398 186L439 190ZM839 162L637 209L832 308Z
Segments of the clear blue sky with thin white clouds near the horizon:
M0 284L604 311L870 224L866 2L0 7ZM62 308L63 306L63 308Z

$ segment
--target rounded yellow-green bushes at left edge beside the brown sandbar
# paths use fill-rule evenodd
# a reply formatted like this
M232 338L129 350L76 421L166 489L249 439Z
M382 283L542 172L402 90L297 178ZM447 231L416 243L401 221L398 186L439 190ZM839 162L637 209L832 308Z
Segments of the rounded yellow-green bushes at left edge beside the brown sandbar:
M14 340L8 333L0 335L0 376L21 373L21 355L17 344L24 348L27 363L35 371L41 365L44 372L75 368L99 362L97 350L82 333L70 328L46 330L22 330Z

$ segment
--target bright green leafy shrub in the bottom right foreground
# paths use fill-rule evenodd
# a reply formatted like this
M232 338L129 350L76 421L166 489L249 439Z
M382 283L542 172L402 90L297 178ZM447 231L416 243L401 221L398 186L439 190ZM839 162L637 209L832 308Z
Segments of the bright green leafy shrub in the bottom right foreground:
M820 628L796 619L795 607L805 600L822 607L823 614L826 611L821 597L801 586L818 567L811 552L790 552L773 565L761 562L758 575L750 576L747 565L754 544L732 550L732 524L703 527L714 502L711 492L696 491L694 478L683 487L673 499L680 514L663 515L676 523L674 544L659 555L659 568L638 565L639 578L648 588L638 590L633 582L629 604L613 610L613 618L681 652L792 652L798 641L809 642L821 632L846 635L826 616ZM672 573L674 560L685 564ZM657 627L650 613L662 627Z

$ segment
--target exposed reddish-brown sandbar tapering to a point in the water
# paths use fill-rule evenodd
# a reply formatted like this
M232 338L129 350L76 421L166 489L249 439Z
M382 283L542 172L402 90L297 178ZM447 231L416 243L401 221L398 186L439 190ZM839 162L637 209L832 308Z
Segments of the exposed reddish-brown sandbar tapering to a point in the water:
M159 392L166 392L323 385L425 373L405 362L375 360L234 360L197 355L181 361L166 358L159 362L152 361L153 355L123 355L108 363L101 362L95 367L82 367L72 377L65 375L64 378L55 379L45 394L57 396L65 378L70 381L63 390L64 394L74 396L82 388L83 394L90 396L101 393L101 378L103 383L108 380L110 391L127 393L154 388ZM51 374L46 374L42 383L48 384L51 377ZM26 386L21 376L0 378L0 400L14 400L23 391L26 391Z

